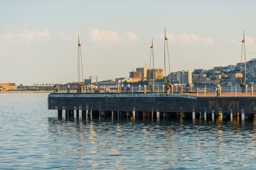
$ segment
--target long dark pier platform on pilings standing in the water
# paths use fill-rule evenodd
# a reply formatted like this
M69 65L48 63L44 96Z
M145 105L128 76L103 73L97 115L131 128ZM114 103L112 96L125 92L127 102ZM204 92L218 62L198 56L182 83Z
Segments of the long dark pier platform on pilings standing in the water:
M58 110L58 117L82 119L90 116L112 119L201 119L236 120L253 119L256 97L197 97L185 94L49 94L48 109Z

